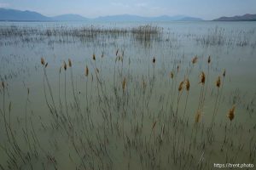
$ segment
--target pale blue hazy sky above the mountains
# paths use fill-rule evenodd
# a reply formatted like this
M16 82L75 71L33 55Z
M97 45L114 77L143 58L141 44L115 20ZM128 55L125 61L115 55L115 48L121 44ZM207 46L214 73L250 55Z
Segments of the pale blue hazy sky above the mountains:
M46 16L114 14L141 16L188 15L204 20L256 14L256 0L0 0L0 8L32 10Z

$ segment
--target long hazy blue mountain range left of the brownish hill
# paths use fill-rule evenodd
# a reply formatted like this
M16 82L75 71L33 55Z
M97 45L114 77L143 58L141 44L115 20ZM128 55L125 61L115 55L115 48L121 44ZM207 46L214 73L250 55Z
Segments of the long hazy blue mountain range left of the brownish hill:
M95 19L85 18L79 14L62 14L54 17L47 17L33 11L20 11L15 9L0 8L0 20L2 21L198 21L200 18L184 15L158 17L143 17L131 14L119 14L111 16L101 16Z

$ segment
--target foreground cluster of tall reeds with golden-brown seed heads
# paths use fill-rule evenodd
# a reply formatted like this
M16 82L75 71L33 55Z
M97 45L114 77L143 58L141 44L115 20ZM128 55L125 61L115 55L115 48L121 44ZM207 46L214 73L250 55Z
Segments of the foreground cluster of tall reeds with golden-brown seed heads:
M146 71L137 74L134 67L130 70L131 61L126 58L124 50L118 49L111 55L113 58L105 58L103 53L100 56L96 53L90 54L90 63L86 62L81 71L85 89L84 82L81 86L75 86L75 82L80 80L77 72L73 72L77 65L71 59L61 61L58 96L53 83L50 83L53 80L48 77L47 69L51 65L41 58L45 98L45 104L42 105L48 107L51 116L48 118L49 123L42 120L35 123L32 119L34 116L29 114L32 113L30 100L33 94L27 88L24 125L20 125L23 143L26 143L23 145L17 141L18 137L11 126L15 121L11 119L12 103L9 103L8 115L7 86L6 82L2 82L1 114L6 139L3 139L3 143L0 141L0 147L8 157L9 168L22 169L30 165L33 169L42 165L42 168L47 169L51 167L47 166L49 163L57 169L61 168L61 161L65 159L77 169L115 169L119 168L119 162L122 162L121 166L130 169L165 169L170 165L177 169L210 169L211 160L215 158L211 150L216 148L225 152L226 161L237 161L237 158L241 158L233 156L237 150L249 154L247 157L254 160L255 139L250 139L249 143L241 140L237 142L232 136L235 133L241 135L244 130L241 123L234 120L235 105L228 112L226 120L215 122L217 116L225 116L218 108L224 101L222 96L226 72L218 76L215 82L212 81L210 56L205 67L208 70L206 73L201 71L198 81L190 74L192 69L197 71L196 63L201 62L197 55L189 60L187 67L182 62L173 62L168 76L160 74L161 68L158 64L161 61L158 57L148 57L148 76L145 76ZM113 69L106 71L109 63L113 64ZM189 72L185 72L186 69ZM70 78L67 77L68 71ZM198 87L197 91L195 88ZM216 94L215 102L212 102L213 108L210 105L210 109L206 107L207 99L212 99L209 88L213 88ZM184 93L186 94L183 95ZM198 101L194 96L192 99L191 94L196 94L196 97L198 95ZM57 98L59 107L56 105ZM194 107L190 103L198 105ZM210 122L207 119L201 121L203 113L207 113L206 117L212 117ZM191 119L191 116L195 118ZM226 126L228 122L230 127ZM218 123L218 126L214 126L214 123ZM215 136L220 141L223 140L223 144L207 141L209 135L206 133L209 131L205 126L211 127L210 139ZM224 137L216 135L219 129L226 131ZM253 132L252 128L249 130ZM39 134L49 135L49 145L42 144L44 140L40 140ZM55 157L58 156L55 153L63 150L60 148L62 144L69 148L67 153L63 153L63 159L61 156ZM250 146L247 147L246 144ZM26 147L22 147L24 145ZM207 160L204 160L204 156L207 156ZM35 165L34 162L39 162L40 165Z

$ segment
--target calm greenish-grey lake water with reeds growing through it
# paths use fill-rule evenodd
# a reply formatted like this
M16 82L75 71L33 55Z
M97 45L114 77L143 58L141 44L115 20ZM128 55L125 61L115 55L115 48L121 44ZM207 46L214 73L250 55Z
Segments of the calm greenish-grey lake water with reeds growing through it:
M0 22L0 166L256 166L255 65L256 22Z

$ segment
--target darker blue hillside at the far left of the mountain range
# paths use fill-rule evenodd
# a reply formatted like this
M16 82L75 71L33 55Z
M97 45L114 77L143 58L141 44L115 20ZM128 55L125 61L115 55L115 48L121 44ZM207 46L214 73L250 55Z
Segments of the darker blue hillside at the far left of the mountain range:
M32 11L20 11L15 9L0 8L0 20L45 21L51 19L44 16L43 14Z

